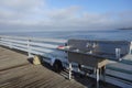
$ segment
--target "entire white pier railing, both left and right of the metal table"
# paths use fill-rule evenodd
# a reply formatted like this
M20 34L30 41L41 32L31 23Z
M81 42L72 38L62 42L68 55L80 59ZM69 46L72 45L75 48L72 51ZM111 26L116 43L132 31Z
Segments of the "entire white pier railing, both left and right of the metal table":
M29 56L64 57L64 53L56 48L58 45L65 45L66 42L67 40L58 38L0 36L0 45L26 52ZM132 48L132 46L130 48ZM130 51L130 53L132 51ZM113 62L107 65L106 75L106 81L123 88L131 88L132 54L128 55L125 59L121 62Z

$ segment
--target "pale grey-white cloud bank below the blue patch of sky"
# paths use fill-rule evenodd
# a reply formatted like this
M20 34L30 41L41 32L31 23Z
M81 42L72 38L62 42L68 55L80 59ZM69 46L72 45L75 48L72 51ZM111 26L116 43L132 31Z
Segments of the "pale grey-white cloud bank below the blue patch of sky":
M132 25L132 11L90 13L72 6L50 9L45 0L1 0L0 31L106 30Z

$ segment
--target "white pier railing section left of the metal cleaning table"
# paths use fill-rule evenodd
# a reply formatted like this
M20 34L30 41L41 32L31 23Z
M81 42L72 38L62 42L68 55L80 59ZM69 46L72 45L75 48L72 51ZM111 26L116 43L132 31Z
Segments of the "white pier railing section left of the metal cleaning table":
M0 36L0 45L10 48L16 48L28 52L29 56L33 54L42 56L61 56L61 51L57 51L58 45L64 45L66 40L56 38L37 38L37 37L21 37L21 36Z

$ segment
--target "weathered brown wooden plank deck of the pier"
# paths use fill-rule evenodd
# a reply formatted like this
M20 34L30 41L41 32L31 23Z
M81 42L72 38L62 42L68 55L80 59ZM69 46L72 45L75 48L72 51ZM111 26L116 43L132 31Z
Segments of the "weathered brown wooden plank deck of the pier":
M30 64L24 54L0 46L0 88L86 88L90 84L88 78L68 80L47 67Z

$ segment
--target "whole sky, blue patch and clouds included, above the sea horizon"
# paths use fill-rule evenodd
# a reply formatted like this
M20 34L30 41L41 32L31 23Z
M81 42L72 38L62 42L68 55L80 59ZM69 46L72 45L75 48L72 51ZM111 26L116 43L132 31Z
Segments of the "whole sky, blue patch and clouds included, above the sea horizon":
M132 26L132 0L0 0L0 32Z

